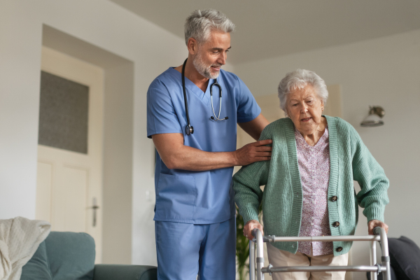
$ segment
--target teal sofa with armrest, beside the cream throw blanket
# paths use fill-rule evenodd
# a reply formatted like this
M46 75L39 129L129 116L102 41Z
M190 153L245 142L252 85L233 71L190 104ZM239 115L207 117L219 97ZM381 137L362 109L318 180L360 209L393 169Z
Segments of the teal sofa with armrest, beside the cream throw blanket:
M94 239L80 232L50 232L22 267L21 280L157 280L157 267L95 265Z

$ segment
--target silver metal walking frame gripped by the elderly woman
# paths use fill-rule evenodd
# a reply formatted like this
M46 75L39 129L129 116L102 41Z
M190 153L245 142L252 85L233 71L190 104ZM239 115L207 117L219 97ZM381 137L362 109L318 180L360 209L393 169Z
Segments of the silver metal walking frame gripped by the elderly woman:
M382 273L384 280L391 280L388 239L383 228L374 228L374 235L367 236L323 236L323 237L276 237L274 235L262 236L260 230L252 231L253 241L249 241L249 279L264 280L264 274L271 275L274 272L370 272L371 279L377 280L377 274ZM257 246L256 270L255 270L255 241ZM293 266L293 267L264 267L264 242L278 241L370 241L370 265L349 266ZM377 263L376 241L381 245L382 264Z

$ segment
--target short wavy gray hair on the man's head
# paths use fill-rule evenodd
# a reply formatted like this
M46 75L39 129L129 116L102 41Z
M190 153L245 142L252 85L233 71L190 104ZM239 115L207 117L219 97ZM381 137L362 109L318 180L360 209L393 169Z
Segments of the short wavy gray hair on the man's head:
M186 20L184 27L186 44L195 38L199 45L206 43L211 31L233 32L235 25L221 12L214 9L195 10Z

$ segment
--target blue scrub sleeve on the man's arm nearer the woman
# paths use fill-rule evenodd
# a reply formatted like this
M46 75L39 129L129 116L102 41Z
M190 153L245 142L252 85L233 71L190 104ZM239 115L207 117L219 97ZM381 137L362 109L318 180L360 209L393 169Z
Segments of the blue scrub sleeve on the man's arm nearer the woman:
M245 83L239 77L237 77L237 79L239 83L237 120L238 123L250 122L260 115L261 109Z

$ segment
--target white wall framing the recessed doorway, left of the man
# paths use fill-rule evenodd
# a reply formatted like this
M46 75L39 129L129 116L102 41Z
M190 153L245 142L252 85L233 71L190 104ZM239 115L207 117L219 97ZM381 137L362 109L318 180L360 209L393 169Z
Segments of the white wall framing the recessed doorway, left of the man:
M154 198L147 202L144 195L154 193L146 91L155 76L182 64L187 52L181 38L111 1L1 1L0 218L35 216L43 24L134 62L132 262L155 264Z

